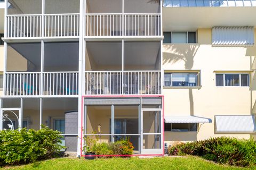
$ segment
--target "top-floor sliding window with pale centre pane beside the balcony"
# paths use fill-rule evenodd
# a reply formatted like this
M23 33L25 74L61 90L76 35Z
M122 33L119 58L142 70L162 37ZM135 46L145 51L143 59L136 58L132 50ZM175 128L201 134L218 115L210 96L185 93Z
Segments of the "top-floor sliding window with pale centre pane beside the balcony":
M196 43L196 32L164 32L163 43Z

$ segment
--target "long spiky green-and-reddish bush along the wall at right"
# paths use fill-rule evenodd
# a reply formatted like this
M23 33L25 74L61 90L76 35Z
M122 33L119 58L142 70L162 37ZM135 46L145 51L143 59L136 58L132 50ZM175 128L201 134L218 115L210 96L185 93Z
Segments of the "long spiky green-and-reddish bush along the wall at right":
M219 137L203 141L180 143L169 148L170 155L196 155L221 164L256 165L256 142Z

